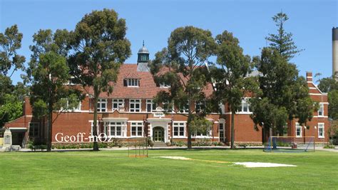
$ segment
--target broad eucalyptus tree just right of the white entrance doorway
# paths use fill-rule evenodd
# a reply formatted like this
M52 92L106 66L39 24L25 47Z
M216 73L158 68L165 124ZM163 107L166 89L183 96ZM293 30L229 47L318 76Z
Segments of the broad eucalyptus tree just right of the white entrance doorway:
M169 84L168 91L160 91L155 101L168 102L168 109L188 117L188 149L192 148L193 131L206 131L210 123L205 120L209 101L208 71L205 62L212 56L215 42L208 30L185 26L171 32L168 48L155 54L150 61L150 71L158 84ZM209 86L209 90L211 86ZM199 104L195 109L195 104ZM168 108L167 107L167 108Z

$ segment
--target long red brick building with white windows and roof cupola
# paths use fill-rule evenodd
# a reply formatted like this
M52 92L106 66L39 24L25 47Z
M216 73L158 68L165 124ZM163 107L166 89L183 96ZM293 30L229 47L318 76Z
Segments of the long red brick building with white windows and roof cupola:
M150 136L153 141L165 142L186 141L187 118L180 114L163 114L165 104L155 106L153 97L158 91L168 86L156 85L150 74L147 62L148 50L143 48L138 52L138 64L123 64L118 74L118 81L114 84L113 93L102 93L98 102L98 133L106 134L108 139L116 138L130 141L134 137ZM297 121L288 124L288 136L315 136L316 142L325 142L328 139L327 129L327 94L322 93L312 82L312 73L307 73L309 94L314 101L320 104L319 111L314 113L312 121L308 122L309 129L299 126ZM205 89L206 94L212 93L212 86ZM53 115L53 143L90 141L93 123L93 99L91 89L88 89L86 98L78 107ZM177 109L177 108L175 108ZM198 109L198 105L193 110ZM222 106L222 115L209 114L206 118L212 122L207 134L193 135L193 141L209 139L210 141L230 142L231 112ZM184 112L184 109L183 109ZM235 114L235 142L247 144L262 144L262 129L254 129L250 119L250 104L243 99L242 108ZM32 116L29 97L24 101L24 114L19 119L5 125L11 129L13 144L25 146L29 138L46 138L46 120L34 119Z

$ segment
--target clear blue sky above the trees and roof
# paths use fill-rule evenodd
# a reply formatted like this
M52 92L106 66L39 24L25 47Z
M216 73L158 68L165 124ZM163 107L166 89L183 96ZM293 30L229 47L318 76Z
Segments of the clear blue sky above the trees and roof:
M101 1L101 0L0 0L0 32L13 24L24 34L19 54L29 61L32 37L39 29L73 30L84 14L103 8L115 9L126 19L127 38L133 55L126 63L136 63L138 49L145 40L150 59L156 51L167 46L170 32L180 26L209 29L213 36L231 31L239 40L245 54L257 56L266 46L265 36L275 33L271 17L283 11L290 17L285 26L292 32L300 49L292 59L299 74L305 71L332 74L332 27L338 26L338 0L317 1ZM21 81L21 72L12 76Z

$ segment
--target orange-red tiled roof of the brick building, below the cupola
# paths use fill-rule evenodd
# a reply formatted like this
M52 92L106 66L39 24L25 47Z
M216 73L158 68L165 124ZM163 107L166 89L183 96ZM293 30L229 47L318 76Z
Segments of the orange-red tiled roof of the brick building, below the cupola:
M165 91L165 88L156 86L152 74L147 71L137 71L137 64L123 64L120 67L118 80L113 84L113 93L102 92L100 98L116 99L153 99L159 91ZM140 79L140 86L128 87L123 85L123 79L130 79L131 76L137 76L134 79ZM89 94L93 94L93 88L87 89ZM208 85L205 94L212 94L212 86Z

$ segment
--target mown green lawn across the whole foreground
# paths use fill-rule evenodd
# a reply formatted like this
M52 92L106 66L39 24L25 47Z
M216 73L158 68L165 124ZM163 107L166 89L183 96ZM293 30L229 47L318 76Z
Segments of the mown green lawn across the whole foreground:
M155 156L185 156L191 161ZM215 161L260 161L297 167L245 168ZM338 153L262 150L163 150L0 153L0 189L336 189Z

